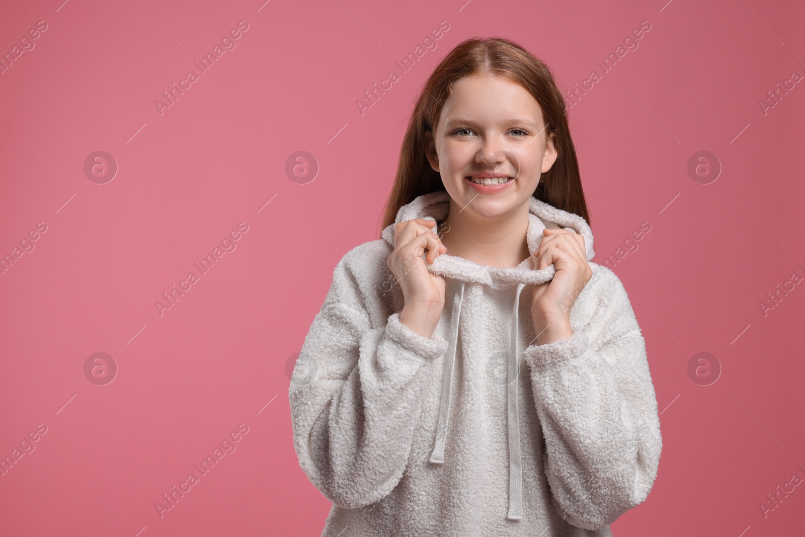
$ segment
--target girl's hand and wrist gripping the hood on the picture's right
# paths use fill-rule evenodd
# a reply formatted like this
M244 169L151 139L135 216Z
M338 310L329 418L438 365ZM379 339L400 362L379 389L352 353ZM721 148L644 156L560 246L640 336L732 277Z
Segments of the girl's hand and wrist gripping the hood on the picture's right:
M534 252L535 266L540 270L553 263L556 274L550 282L535 285L531 299L531 316L540 345L572 334L571 308L592 278L582 235L567 229L545 229L543 234Z

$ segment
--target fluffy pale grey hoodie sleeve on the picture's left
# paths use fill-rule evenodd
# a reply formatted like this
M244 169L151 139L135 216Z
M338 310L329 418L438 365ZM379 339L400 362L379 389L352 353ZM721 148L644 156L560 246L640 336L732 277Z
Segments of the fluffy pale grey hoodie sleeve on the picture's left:
M299 466L328 500L355 509L403 477L425 376L448 342L413 332L398 312L371 326L347 257L305 337L289 399Z

